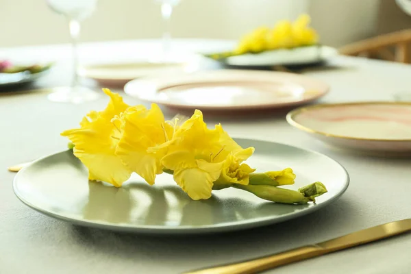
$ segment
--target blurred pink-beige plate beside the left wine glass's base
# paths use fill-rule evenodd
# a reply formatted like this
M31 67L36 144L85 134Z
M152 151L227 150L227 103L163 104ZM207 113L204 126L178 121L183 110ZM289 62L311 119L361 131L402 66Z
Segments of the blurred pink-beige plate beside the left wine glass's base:
M123 64L95 64L84 66L79 70L79 75L95 79L101 85L124 86L132 79L162 75L168 73L184 72L186 63L161 63L161 62L134 62Z

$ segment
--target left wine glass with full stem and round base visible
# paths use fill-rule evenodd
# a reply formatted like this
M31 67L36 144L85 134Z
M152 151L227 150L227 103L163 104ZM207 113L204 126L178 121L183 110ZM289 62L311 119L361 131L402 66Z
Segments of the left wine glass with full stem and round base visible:
M49 100L83 103L97 99L99 97L97 92L80 85L77 72L79 64L77 43L81 28L80 23L95 10L97 0L47 0L47 4L51 10L64 15L69 21L73 61L73 82L71 86L53 88L53 92L48 97Z

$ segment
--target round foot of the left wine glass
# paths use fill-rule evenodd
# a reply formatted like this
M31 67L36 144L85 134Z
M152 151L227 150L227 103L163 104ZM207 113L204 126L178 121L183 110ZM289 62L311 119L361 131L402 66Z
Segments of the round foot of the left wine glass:
M100 97L99 93L84 86L63 86L53 88L53 92L47 97L50 101L59 103L84 103L95 101Z

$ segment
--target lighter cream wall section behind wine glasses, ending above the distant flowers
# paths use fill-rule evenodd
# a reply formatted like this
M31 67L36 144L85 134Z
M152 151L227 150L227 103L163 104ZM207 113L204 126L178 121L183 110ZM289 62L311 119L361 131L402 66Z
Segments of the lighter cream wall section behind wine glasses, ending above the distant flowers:
M66 0L67 1L67 0ZM17 4L18 3L18 4ZM183 0L172 17L173 36L238 38L261 24L295 18L307 0ZM0 47L68 42L66 21L45 0L0 0ZM99 0L84 22L82 40L158 38L160 7L153 0Z

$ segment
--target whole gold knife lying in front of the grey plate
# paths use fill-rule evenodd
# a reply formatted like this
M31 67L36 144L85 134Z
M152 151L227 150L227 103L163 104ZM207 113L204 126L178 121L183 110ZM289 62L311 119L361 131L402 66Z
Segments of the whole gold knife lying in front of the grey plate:
M260 273L267 269L273 269L277 266L290 264L300 260L306 260L316 256L321 256L326 253L331 253L341 249L364 245L368 242L381 240L398 234L411 231L411 219L377 225L367 229L353 232L351 234L320 242L315 245L299 247L283 253L278 253L272 256L257 258L246 262L238 262L235 264L227 264L225 266L216 266L210 269L200 269L197 271L188 272L186 274L253 274Z

